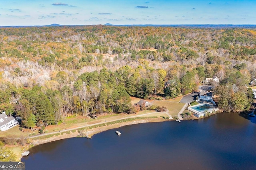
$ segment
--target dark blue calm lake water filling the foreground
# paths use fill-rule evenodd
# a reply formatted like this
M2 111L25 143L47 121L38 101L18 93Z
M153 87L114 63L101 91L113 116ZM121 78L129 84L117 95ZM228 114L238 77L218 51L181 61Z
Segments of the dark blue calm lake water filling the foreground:
M219 113L120 127L35 146L22 161L26 170L255 170L256 117Z

